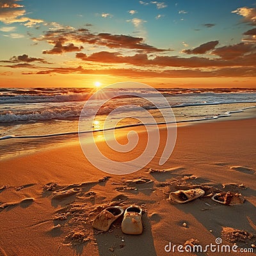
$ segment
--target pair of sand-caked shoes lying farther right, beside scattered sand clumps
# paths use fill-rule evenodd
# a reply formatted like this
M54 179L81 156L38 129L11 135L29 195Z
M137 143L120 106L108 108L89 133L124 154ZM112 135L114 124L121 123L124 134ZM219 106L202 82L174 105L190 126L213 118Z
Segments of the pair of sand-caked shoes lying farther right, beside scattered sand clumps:
M204 196L204 194L205 191L200 188L179 190L171 192L169 195L169 199L179 204L185 204L192 200L195 200L196 198ZM241 194L229 191L216 193L215 195L212 196L212 200L225 205L237 205L243 204L244 202L244 198Z

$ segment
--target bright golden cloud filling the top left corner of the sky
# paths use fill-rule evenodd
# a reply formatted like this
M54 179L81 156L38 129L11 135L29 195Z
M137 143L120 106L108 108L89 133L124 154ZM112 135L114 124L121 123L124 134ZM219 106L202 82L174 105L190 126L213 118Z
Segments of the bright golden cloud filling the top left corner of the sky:
M31 19L25 17L26 10L23 9L23 5L17 4L18 0L1 0L0 1L0 21L5 24L12 24L15 22L24 23L24 26L31 28L37 23L44 22L40 19Z

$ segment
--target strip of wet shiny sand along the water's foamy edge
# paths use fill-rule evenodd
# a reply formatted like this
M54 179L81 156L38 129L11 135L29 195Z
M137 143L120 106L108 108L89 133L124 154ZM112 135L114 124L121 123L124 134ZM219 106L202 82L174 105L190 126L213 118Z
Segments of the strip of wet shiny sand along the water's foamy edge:
M191 125L197 125L197 124L207 124L211 122L222 122L222 121L232 121L232 120L243 120L243 119L253 119L256 116L256 107L250 107L243 109L242 111L236 111L234 113L230 113L230 116L216 116L216 118L207 118L202 120L188 120L188 121L182 121L182 122L176 122L177 127L181 126L191 126ZM159 128L165 127L166 124L157 124ZM173 125L173 124L167 124ZM150 127L152 125L148 124L147 127ZM120 131L118 134L124 134L126 136L126 133L129 132L129 130L132 129L136 132L144 131L143 124L136 124L136 125L127 125L127 127L117 127L106 129L104 131ZM95 134L102 134L104 132L102 130L100 131L93 131ZM126 132L126 133L125 133ZM84 132L84 133L90 133ZM27 154L36 154L38 150L44 151L44 150L51 150L51 148L54 147L62 147L63 145L67 146L69 143L79 143L79 138L77 136L77 132L67 132L65 134L49 134L47 136L14 136L6 139L0 139L0 143L2 143L3 147L9 147L8 148L8 154L3 154L0 157L0 162L5 161L6 159L12 159L15 157L22 157L26 156ZM34 140L35 139L35 140ZM37 141L36 141L37 140ZM10 143L8 143L10 142ZM17 144L16 144L17 143ZM40 144L40 148L36 147L36 144ZM13 146L12 146L13 145ZM17 151L17 148L20 150ZM3 153L3 152L2 152Z

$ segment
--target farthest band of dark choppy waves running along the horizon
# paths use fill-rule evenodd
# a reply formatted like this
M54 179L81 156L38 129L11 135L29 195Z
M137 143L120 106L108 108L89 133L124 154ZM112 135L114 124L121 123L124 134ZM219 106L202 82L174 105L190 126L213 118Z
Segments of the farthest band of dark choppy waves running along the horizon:
M80 101L89 99L94 92L93 88L1 88L0 104ZM127 92L127 95L123 95L124 92ZM110 99L111 97L157 97L159 92L165 97L193 96L196 94L212 96L221 93L256 93L256 88L164 88L157 90L103 88L100 90L99 96L102 99Z

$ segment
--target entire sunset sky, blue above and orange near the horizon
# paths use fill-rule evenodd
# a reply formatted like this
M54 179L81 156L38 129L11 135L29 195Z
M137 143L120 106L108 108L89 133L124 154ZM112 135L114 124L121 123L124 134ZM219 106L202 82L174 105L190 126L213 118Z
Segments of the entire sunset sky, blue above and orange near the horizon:
M0 0L1 87L255 88L256 1Z

